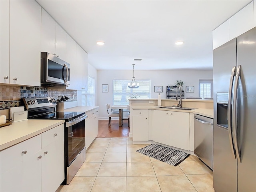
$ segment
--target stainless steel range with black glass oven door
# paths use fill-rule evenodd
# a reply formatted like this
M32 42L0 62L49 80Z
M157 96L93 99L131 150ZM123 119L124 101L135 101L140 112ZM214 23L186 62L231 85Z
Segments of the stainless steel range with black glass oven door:
M56 112L51 98L23 98L28 119L63 119L64 172L63 185L69 184L85 161L85 112Z

